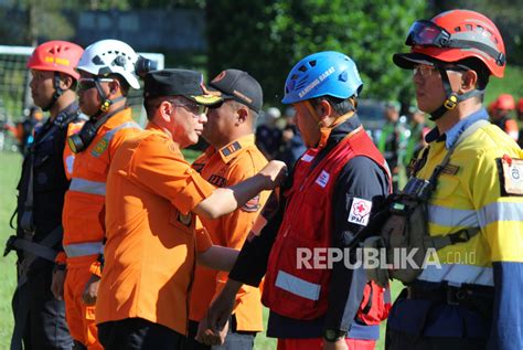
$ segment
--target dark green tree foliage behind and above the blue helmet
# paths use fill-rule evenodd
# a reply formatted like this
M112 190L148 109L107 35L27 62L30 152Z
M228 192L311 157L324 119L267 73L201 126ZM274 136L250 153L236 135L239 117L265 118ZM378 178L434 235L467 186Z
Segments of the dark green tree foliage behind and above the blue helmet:
M392 62L406 50L409 25L425 17L426 2L343 0L209 1L209 73L227 67L248 71L277 103L295 63L319 51L351 56L364 81L363 97L409 103L408 72ZM406 100L408 99L408 100Z

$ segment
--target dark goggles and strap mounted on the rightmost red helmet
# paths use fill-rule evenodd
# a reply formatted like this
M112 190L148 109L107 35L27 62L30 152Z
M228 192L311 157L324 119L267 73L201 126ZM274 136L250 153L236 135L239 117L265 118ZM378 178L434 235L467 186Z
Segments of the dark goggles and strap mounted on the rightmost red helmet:
M449 49L478 49L495 60L498 65L504 65L505 56L494 47L485 44L477 43L469 40L460 40L452 35L444 28L437 25L433 21L416 21L408 30L405 44L408 46L433 46Z

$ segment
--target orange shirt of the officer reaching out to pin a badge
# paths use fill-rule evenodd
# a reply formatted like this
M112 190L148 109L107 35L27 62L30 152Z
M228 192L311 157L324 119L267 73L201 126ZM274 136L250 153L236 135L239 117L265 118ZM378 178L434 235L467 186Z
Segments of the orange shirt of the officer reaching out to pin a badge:
M213 190L151 124L121 145L107 178L97 324L139 317L185 333L195 253L212 245L191 211Z

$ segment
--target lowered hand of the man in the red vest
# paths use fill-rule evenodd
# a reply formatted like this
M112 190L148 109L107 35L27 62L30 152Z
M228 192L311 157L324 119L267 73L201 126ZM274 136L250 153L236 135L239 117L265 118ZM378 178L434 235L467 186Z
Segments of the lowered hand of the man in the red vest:
M214 299L207 315L200 321L196 340L207 346L224 341L227 335L228 319L233 312L234 301L242 284L228 279L222 293Z

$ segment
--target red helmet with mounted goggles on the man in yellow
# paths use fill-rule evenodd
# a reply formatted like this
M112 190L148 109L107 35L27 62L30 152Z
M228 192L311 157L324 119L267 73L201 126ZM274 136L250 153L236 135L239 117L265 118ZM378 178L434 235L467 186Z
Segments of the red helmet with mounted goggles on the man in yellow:
M503 76L506 65L505 46L495 24L481 13L469 10L451 10L430 21L415 22L405 44L412 46L408 54L395 54L394 62L403 68L434 59L457 62L474 57L480 60L492 75Z

